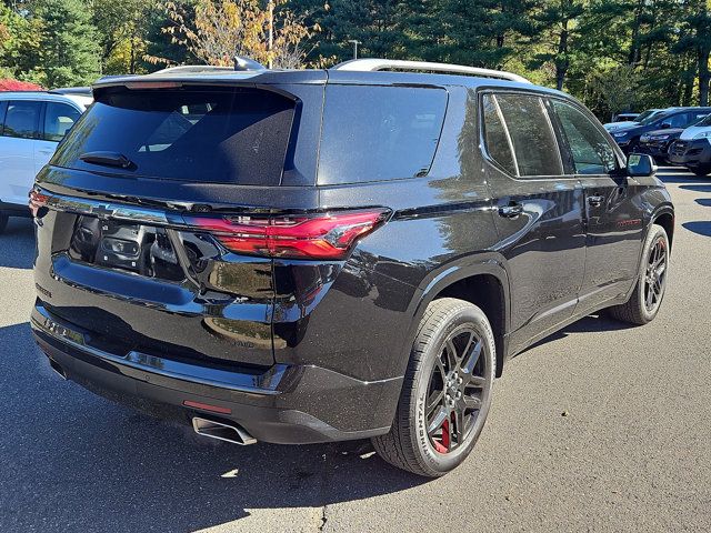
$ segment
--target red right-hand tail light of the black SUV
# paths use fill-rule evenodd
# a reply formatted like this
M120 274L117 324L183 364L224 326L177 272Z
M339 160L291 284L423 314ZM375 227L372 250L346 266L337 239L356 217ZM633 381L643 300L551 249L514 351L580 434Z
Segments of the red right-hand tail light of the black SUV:
M237 253L278 258L342 259L354 242L387 218L387 210L284 217L186 217Z

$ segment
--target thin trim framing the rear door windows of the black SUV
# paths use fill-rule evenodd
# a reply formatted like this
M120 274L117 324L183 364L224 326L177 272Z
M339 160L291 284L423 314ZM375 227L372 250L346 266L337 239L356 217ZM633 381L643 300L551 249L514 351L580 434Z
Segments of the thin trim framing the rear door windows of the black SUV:
M555 147L558 147L558 161L560 163L560 169L561 169L561 173L560 174L538 174L538 175L511 175L505 169L503 169L489 153L489 149L487 148L487 137L485 137L485 127L484 127L484 112L483 112L483 97L485 94L492 94L494 97L494 101L497 102L497 109L499 109L499 101L495 98L498 94L515 94L515 95L525 95L525 97L534 97L538 98L539 100L539 105L541 105L541 109L543 111L543 113L547 117L547 123L548 127L551 130L551 133L553 135L553 141L555 142ZM545 93L544 91L534 91L534 90L525 90L525 89L508 89L508 88L498 88L498 87L488 87L488 88L481 88L478 91L478 101L477 101L477 107L478 107L478 112L479 112L479 118L477 120L478 122L478 128L479 128L479 148L480 148L480 153L482 154L483 159L491 165L495 167L497 170L503 172L508 178L512 179L512 180L517 180L517 181L550 181L550 180L559 180L559 179L579 179L579 174L568 174L565 173L565 165L563 164L563 160L562 160L562 153L561 153L561 147L560 147L560 139L558 138L558 132L552 123L552 119L550 115L550 110L548 109L548 105L545 105L545 99L549 97L548 93ZM503 119L503 113L500 114L500 119L502 119L502 123L504 125L504 128L507 129L507 138L510 138L510 133L508 131L508 124L505 122L505 119ZM515 157L515 152L513 151L513 144L512 142L510 142L509 148L511 150L511 155L513 157L513 162L514 165L517 168L517 172L519 172L519 162L518 159Z

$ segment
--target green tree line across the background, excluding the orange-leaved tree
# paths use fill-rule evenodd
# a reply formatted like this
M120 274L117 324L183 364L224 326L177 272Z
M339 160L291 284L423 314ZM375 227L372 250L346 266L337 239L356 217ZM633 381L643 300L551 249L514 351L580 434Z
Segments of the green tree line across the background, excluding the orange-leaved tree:
M197 0L170 3L194 29ZM351 59L357 40L361 57L512 70L603 118L709 100L711 0L288 0L277 10L317 29L299 46L312 66ZM74 84L194 61L163 31L171 23L160 0L3 1L0 74Z

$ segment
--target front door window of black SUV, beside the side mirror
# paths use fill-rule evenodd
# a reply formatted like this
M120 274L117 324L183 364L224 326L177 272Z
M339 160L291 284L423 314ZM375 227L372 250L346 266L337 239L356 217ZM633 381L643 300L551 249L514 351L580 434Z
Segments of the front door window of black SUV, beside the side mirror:
M574 107L553 100L577 174L605 174L617 168L614 149L600 129Z

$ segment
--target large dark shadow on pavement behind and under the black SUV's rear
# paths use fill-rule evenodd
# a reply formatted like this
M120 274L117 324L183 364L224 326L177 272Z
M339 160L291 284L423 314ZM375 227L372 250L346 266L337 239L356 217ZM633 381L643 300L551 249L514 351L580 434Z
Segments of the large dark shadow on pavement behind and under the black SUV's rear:
M112 404L61 381L27 323L0 329L0 531L194 531L425 481L357 443L242 447Z

